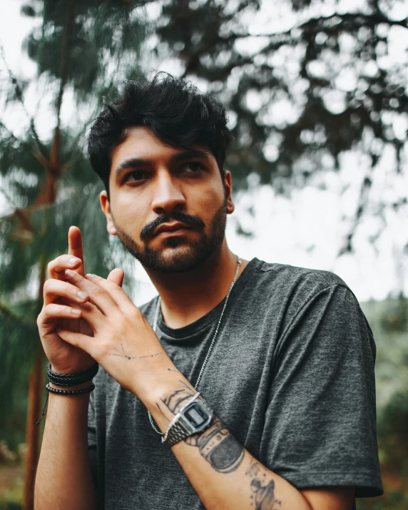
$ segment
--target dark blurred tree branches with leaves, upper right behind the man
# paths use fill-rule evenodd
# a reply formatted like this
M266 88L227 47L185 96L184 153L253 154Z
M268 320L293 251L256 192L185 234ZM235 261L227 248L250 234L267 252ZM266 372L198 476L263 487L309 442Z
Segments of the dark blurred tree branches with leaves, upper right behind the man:
M339 170L347 151L369 158L339 255L352 251L384 158L396 183L407 169L407 45L397 42L407 41L408 12L398 6L365 0L345 12L311 0L168 0L158 16L159 60L177 58L182 76L228 105L237 144L227 163L241 186L255 172L290 194L320 170ZM248 29L262 13L272 13L268 26ZM373 242L385 211L406 207L404 194L372 204L382 220Z

